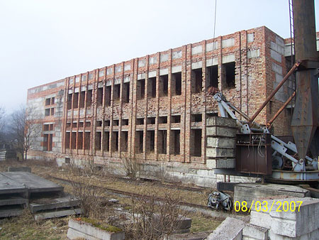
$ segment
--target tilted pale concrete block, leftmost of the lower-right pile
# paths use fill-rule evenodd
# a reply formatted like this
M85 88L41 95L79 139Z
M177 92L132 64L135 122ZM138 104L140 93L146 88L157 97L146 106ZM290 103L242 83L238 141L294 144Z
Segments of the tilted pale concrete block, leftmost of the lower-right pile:
M233 217L226 218L212 234L209 234L207 240L216 239L242 239L242 229L245 227L245 222Z

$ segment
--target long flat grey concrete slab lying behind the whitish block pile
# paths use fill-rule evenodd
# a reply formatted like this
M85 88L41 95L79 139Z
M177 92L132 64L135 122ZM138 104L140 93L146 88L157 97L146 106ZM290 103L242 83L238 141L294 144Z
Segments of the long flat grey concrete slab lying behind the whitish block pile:
M250 206L253 200L284 197L310 197L310 192L293 185L242 183L235 185L234 202L246 201ZM284 197L279 197L284 196ZM270 197L270 198L269 198Z

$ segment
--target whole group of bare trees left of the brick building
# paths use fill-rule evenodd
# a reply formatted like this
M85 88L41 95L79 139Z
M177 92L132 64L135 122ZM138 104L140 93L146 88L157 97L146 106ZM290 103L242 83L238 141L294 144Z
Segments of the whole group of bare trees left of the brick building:
M16 158L26 159L42 131L37 119L34 109L25 106L12 114L6 114L5 109L0 107L0 151L11 151L16 153Z

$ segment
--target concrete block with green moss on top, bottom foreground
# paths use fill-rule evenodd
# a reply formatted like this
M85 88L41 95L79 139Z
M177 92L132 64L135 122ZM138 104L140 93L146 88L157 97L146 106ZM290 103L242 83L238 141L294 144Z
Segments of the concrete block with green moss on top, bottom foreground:
M102 229L93 227L91 224L88 224L86 222L75 221L73 219L69 220L69 229L74 229L75 231L80 232L82 234L82 237L83 235L85 235L84 239L86 239L86 236L89 236L92 239L106 239L106 240L125 239L125 234L123 231L121 232L103 231ZM74 231L72 230L71 232L74 233ZM69 233L68 233L68 237L69 237Z

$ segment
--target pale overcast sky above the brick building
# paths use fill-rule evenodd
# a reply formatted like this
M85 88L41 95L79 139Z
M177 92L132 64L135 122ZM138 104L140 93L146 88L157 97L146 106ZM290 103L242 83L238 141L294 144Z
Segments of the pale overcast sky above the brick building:
M10 113L30 87L213 38L214 8L215 0L0 0L0 106ZM258 26L289 38L288 0L217 0L216 37Z

